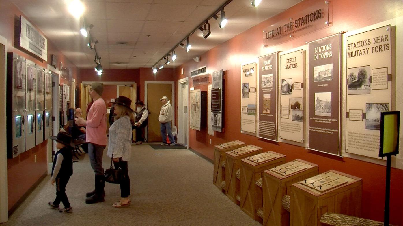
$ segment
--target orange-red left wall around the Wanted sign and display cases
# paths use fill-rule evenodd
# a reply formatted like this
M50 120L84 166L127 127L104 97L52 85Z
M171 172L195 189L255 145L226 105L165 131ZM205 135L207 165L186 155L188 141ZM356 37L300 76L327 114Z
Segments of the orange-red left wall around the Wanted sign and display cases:
M2 1L0 7L0 35L7 39L7 52L15 52L27 60L35 62L35 64L48 68L48 63L29 55L23 50L14 47L14 18L15 16L25 16L10 1ZM29 20L29 18L27 18ZM33 24L33 23L32 23ZM35 26L35 24L33 24ZM36 27L36 26L35 26ZM38 29L39 30L39 29ZM43 35L43 33L42 33ZM64 68L69 68L70 77L77 78L77 68L67 60L50 40L48 40L48 59L54 54L58 58L58 69L60 62ZM29 189L43 176L47 174L48 164L46 155L47 141L35 146L34 148L20 154L17 158L7 160L8 174L8 210L18 203ZM35 162L36 156L36 162Z

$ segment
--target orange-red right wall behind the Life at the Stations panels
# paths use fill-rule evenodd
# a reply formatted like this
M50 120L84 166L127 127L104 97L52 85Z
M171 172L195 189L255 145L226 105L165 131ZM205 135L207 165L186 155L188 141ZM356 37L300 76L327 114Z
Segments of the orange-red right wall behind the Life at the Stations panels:
M275 24L301 14L301 10L309 8L316 2L322 0L305 0L289 10L280 13L251 29L237 35L233 39L214 47L201 56L201 62L189 61L175 70L175 81L185 78L191 70L200 66L207 66L207 70L212 72L223 69L225 73L225 94L224 94L224 132L215 132L215 136L207 134L207 129L197 131L189 130L189 146L197 152L214 158L214 145L231 140L241 140L247 144L254 144L287 155L287 161L301 158L319 165L320 173L334 169L343 173L351 174L363 179L362 193L362 217L383 221L384 194L385 194L385 166L372 164L351 158L339 158L318 152L311 152L305 148L293 146L285 143L274 143L258 139L254 136L241 134L241 65L250 59L257 60L260 55L273 53L275 51L285 51L295 47L305 45L306 41L316 40L340 31L352 31L361 27L366 27L397 16L403 15L403 3L401 0L334 0L331 1L329 11L332 13L332 26L325 29L297 37L289 42L281 43L274 47L263 48L262 30ZM231 26L231 21L227 25ZM399 28L398 28L399 29ZM247 59L247 60L246 60ZM185 74L180 74L180 68L184 68ZM177 83L177 82L176 82ZM189 79L189 85L192 86ZM177 87L177 84L176 86ZM207 90L207 85L197 86ZM175 93L178 98L178 93ZM175 102L177 109L177 103ZM175 114L177 119L177 114ZM177 122L178 120L176 120ZM212 144L210 144L212 139ZM396 168L391 172L391 224L403 225L403 170Z

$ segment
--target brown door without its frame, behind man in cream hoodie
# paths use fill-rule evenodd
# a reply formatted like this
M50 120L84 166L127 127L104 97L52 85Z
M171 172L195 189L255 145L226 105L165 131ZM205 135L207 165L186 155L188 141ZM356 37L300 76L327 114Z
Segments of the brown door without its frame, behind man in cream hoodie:
M172 102L172 84L147 84L147 106L148 115L148 142L162 142L160 132L160 110L162 103L160 98L166 96ZM172 103L171 103L172 105ZM172 107L172 118L174 109Z

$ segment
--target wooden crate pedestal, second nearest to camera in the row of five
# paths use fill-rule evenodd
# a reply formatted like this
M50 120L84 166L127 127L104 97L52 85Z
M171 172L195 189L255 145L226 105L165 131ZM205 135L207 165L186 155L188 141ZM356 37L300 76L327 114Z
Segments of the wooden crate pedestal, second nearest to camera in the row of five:
M290 213L282 207L291 185L318 175L318 165L296 159L263 173L263 226L289 226Z

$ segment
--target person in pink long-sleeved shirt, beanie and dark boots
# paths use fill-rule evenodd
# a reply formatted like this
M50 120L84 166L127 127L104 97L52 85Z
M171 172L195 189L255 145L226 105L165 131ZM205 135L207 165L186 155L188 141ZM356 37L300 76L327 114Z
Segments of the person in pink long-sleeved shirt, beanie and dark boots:
M105 201L104 168L102 168L102 155L108 142L106 136L106 105L101 98L104 84L93 82L89 89L89 96L93 104L88 111L87 121L83 118L75 119L78 125L86 126L86 142L88 144L89 160L95 173L95 189L85 194L85 203L98 203Z

